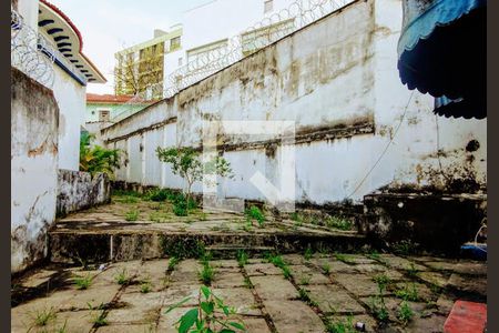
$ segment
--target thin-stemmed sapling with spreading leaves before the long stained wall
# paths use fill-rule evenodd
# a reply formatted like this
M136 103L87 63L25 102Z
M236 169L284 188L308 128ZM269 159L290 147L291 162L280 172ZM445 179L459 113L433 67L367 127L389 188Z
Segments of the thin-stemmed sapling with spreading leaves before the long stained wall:
M186 188L184 191L186 203L191 202L192 185L203 181L204 174L215 174L220 176L233 178L231 164L221 157L216 157L205 163L201 161L201 154L192 148L169 148L157 147L156 154L160 161L171 164L172 172L184 179ZM183 206L177 208L179 213L183 213ZM185 211L189 214L189 204ZM175 213L176 214L176 213Z

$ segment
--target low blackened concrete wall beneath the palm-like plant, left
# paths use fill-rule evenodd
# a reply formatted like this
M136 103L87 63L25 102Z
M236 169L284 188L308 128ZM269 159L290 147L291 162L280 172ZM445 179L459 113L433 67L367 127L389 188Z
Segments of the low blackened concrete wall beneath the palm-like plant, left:
M111 200L111 183L105 173L93 179L88 172L59 170L57 214L65 215Z

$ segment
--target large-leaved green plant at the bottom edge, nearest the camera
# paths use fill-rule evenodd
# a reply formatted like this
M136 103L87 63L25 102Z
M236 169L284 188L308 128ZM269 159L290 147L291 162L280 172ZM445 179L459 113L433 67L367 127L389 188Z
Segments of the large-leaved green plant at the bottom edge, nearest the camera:
M180 307L191 297L170 306L166 313ZM241 320L232 320L236 311L224 304L224 301L213 294L205 285L201 286L197 306L189 310L175 322L179 333L236 333L246 332L245 325Z

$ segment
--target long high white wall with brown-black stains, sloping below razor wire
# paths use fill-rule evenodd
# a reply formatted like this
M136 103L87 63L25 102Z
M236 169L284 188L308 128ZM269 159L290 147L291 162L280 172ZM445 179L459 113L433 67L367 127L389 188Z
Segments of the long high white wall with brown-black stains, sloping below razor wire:
M104 129L108 144L128 151L118 179L181 188L152 147L200 147L203 119L291 120L297 202L360 201L381 188L442 188L456 178L483 186L487 121L437 119L431 97L400 83L401 16L400 0L355 1ZM268 137L221 140L236 175L223 181L222 194L264 200L249 182L255 171L278 186L282 149Z

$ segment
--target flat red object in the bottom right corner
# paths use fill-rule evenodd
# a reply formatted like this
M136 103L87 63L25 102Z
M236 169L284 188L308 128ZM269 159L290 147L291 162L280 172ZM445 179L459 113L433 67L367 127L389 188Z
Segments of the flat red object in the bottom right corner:
M456 301L444 324L445 333L482 333L487 326L487 304Z

